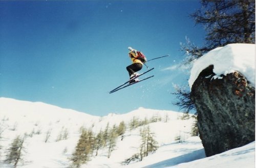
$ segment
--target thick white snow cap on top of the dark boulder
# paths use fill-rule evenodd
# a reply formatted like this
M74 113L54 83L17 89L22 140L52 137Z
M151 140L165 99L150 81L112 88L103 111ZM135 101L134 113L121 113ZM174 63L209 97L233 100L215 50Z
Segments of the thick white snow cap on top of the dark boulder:
M255 87L255 44L228 44L197 59L188 80L190 88L201 71L209 65L214 65L215 78L237 70Z

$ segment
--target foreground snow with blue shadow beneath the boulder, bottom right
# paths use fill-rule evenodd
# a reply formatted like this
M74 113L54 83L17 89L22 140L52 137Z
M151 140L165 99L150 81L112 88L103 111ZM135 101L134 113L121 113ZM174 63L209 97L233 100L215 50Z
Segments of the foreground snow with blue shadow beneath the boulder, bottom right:
M193 142L194 143L194 142ZM147 168L253 168L255 167L255 142L236 149L223 152L218 155L203 159L203 151L198 150L172 159L164 160L159 163L146 166ZM191 161L194 160L194 161ZM190 161L190 162L189 162Z

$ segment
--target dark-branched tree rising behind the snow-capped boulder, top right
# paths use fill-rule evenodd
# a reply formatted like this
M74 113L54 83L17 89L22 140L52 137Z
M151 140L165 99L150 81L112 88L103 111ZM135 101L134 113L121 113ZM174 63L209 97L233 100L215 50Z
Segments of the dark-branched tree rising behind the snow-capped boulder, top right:
M230 43L255 43L254 0L201 0L202 8L191 14L206 31L205 45L198 47L187 39L181 50L190 62L204 53Z

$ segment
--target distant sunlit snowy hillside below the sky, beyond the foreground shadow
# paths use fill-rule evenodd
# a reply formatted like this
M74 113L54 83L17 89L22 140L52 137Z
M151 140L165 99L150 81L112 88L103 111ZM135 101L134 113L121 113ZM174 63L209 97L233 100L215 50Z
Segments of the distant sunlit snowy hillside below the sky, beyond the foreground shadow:
M17 101L14 99L0 98L0 124L2 139L0 145L5 153L12 140L17 136L28 135L25 141L26 155L25 160L29 164L22 167L65 167L69 165L69 157L74 152L79 130L81 127L92 128L97 133L104 130L106 125L118 126L120 122L129 124L133 118L143 121L145 118L162 118L150 124L155 139L160 146L174 142L178 135L183 139L190 136L191 125L194 119L181 120L183 113L164 110L152 110L139 108L126 114L109 114L108 116L92 116L86 113L77 112L71 109L62 109L56 106L40 103ZM63 131L68 132L67 139L57 140ZM131 157L137 151L140 141L140 128L126 131L124 140L117 140L116 149L108 159L106 151L102 150L97 157L92 157L88 163L91 167L104 167L106 163L117 164L124 159ZM51 136L45 142L47 133ZM202 145L199 144L200 148ZM66 151L63 154L63 151ZM5 157L2 157L2 161ZM3 164L7 166L6 164ZM3 167L3 166L1 166Z

